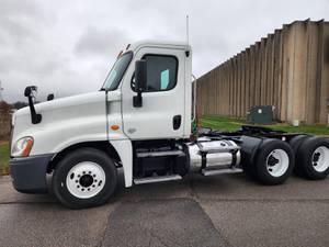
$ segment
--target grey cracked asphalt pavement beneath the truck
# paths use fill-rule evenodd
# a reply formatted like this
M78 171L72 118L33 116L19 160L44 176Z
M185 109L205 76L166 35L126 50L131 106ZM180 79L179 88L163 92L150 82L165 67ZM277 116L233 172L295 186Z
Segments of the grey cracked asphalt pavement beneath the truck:
M245 175L122 182L105 205L72 211L0 178L0 246L329 246L329 178L276 187Z

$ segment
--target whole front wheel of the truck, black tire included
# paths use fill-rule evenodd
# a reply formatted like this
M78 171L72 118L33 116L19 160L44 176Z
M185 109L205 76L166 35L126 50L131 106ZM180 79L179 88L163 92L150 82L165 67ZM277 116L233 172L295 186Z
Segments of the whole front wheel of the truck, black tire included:
M81 148L61 159L53 176L53 192L67 207L86 209L104 204L117 184L112 159L95 148Z

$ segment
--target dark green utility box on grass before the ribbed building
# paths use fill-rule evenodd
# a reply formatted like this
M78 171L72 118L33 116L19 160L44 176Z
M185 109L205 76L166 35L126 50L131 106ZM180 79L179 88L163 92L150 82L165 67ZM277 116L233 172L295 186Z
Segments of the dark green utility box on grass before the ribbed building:
M247 113L247 121L252 124L271 124L273 123L273 105L252 106Z

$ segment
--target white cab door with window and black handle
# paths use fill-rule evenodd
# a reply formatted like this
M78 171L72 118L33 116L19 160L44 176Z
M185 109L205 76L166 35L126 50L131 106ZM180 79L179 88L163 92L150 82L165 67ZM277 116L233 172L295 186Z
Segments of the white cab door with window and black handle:
M140 48L122 86L124 133L132 139L180 138L184 133L184 49ZM133 106L135 61L147 61L143 106Z

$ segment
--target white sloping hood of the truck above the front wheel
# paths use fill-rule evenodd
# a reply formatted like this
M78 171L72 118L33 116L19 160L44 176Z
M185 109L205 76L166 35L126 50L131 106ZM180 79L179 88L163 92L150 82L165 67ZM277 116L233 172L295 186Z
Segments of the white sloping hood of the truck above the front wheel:
M106 102L120 101L120 90L97 91L67 97L35 104L42 122L32 124L30 108L15 112L13 116L12 144L32 136L34 145L31 155L47 154L75 143L105 141Z

